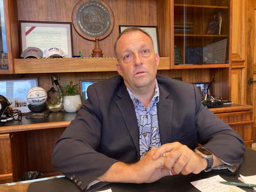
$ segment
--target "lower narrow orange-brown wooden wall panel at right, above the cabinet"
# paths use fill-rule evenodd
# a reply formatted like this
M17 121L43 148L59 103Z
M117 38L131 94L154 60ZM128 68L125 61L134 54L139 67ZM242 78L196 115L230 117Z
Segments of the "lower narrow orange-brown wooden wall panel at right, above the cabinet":
M242 69L231 71L231 101L236 104L242 103Z

